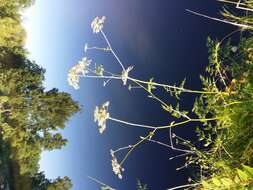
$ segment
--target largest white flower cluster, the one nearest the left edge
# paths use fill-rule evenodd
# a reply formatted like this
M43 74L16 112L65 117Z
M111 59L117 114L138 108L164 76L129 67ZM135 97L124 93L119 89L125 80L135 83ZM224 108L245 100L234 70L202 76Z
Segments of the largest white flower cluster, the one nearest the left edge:
M73 66L68 73L68 83L74 89L79 89L79 78L80 75L85 75L88 73L88 66L90 65L91 60L88 60L87 57L84 57L81 61Z

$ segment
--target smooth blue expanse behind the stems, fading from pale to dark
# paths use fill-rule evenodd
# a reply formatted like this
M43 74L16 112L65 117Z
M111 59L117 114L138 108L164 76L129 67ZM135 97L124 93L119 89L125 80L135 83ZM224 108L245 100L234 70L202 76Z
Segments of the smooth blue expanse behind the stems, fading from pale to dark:
M187 172L176 172L182 160L168 161L174 153L145 143L129 158L124 180L111 171L110 148L135 143L145 131L128 129L110 123L101 136L93 123L93 109L107 100L117 117L133 122L163 125L168 116L140 91L129 92L120 82L107 88L103 81L81 80L76 91L67 84L67 73L84 56L86 42L103 46L101 36L92 34L90 22L95 16L107 16L105 31L126 66L134 65L133 75L163 82L179 82L185 77L188 85L199 88L198 76L207 63L207 35L224 36L230 27L190 15L185 9L217 14L217 3L211 0L151 1L151 0L36 0L24 18L27 48L31 59L46 68L45 86L71 93L83 105L62 131L69 143L62 150L45 152L40 166L47 177L69 176L74 190L98 189L87 176L93 176L118 187L133 189L136 179L151 189L185 183ZM87 56L110 69L119 69L110 55L89 52ZM121 90L119 90L121 89ZM165 95L168 98L168 95ZM191 106L192 98L183 105ZM177 129L186 138L193 138L193 129ZM167 133L158 136L168 140ZM178 177L176 177L178 176Z

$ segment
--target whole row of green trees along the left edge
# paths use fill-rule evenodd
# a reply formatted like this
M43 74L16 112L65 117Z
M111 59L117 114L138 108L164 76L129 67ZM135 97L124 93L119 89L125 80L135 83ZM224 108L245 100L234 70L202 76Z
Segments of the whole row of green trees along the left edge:
M10 149L13 188L68 190L68 177L46 179L39 171L43 150L60 149L67 142L58 129L79 111L71 96L45 90L45 70L28 59L21 12L32 0L0 0L0 131Z

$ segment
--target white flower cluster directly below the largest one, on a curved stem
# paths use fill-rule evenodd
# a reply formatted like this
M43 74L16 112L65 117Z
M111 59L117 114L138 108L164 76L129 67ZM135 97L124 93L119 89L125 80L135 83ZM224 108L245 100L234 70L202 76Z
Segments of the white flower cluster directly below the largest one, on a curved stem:
M106 129L106 120L110 117L108 106L109 102L107 101L100 107L96 106L94 111L94 121L98 123L98 130L100 134L102 134Z

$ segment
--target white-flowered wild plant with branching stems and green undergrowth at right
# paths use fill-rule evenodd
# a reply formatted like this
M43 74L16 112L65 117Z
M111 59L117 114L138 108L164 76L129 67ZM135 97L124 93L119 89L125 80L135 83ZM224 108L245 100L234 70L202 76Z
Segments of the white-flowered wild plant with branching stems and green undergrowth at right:
M222 2L234 4L232 1ZM250 3L250 1L247 1L247 3ZM241 4L239 3L239 5ZM230 21L225 20L225 22L233 23L233 25L242 27L242 29L251 30L252 26L250 24L245 24L245 22L235 23L226 14L227 12L224 11L223 15L230 19ZM247 180L245 180L245 176L245 179L242 179L241 175L243 175L243 172L246 172L245 167L247 171L251 171L250 166L252 166L253 150L251 145L253 144L253 131L252 127L250 128L249 126L252 126L250 116L253 113L253 38L241 37L238 46L231 45L228 40L234 32L225 36L221 41L213 41L208 38L209 65L206 68L207 76L200 76L203 84L202 90L193 90L185 87L185 80L177 86L159 83L154 81L153 78L145 81L132 76L131 71L134 67L126 66L120 60L103 30L105 20L105 16L96 17L91 23L93 33L103 37L106 44L105 47L85 44L84 52L97 50L110 53L117 61L120 71L113 73L103 65L95 64L91 59L84 57L69 70L69 84L73 88L79 89L80 78L102 79L104 81L103 86L106 86L112 80L119 80L128 90L142 89L149 98L158 102L161 108L169 112L174 118L169 124L152 126L125 121L112 116L110 114L109 108L111 103L109 101L96 106L94 110L94 122L97 123L100 134L105 132L108 122L117 122L128 127L144 128L147 130L146 134L141 136L136 143L110 150L111 165L115 175L119 179L123 178L123 166L127 158L143 142L148 141L181 152L182 154L170 158L186 157L185 165L179 167L178 170L190 165L195 165L199 168L198 179L191 179L189 184L170 188L171 190L179 188L211 189L214 185L224 188L239 187L238 184L244 187L251 184L251 174L249 174L251 178L248 177ZM165 102L159 97L157 93L158 88L164 90L165 93L169 93L178 102L180 102L180 95L182 93L195 94L197 98L192 110L182 110L179 103L172 105ZM243 119L240 119L240 117ZM174 127L192 122L196 125L201 125L201 127L197 128L196 132L199 136L199 141L203 142L203 148L199 149L199 147L177 136L172 131ZM157 131L161 130L169 131L170 144L165 144L155 139ZM184 148L176 147L177 143L175 144L174 142L184 145ZM125 151L127 152L123 159L119 160L117 154L124 153ZM245 165L242 166L242 164ZM236 170L231 168L236 168ZM228 171L230 171L231 175L225 175ZM233 180L236 177L239 180ZM93 179L93 181L96 180ZM217 186L218 181L222 185ZM104 189L111 188L98 180L96 182ZM231 184L228 185L230 182Z

